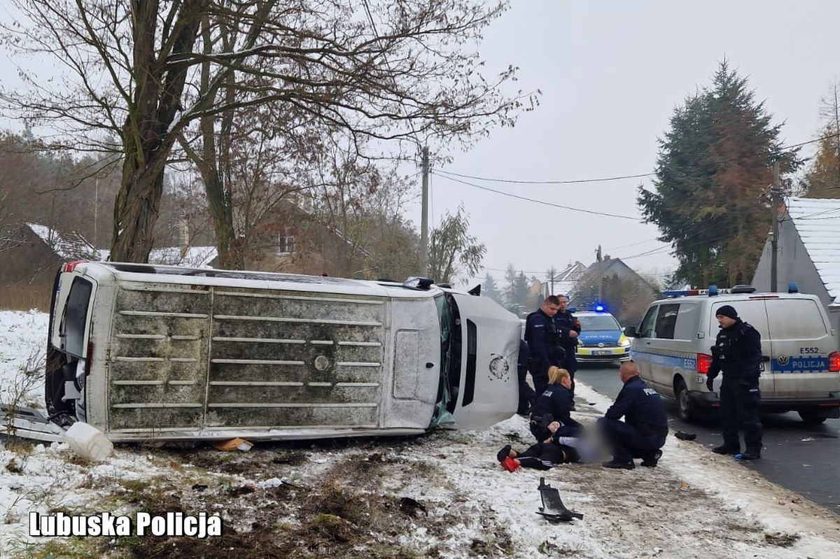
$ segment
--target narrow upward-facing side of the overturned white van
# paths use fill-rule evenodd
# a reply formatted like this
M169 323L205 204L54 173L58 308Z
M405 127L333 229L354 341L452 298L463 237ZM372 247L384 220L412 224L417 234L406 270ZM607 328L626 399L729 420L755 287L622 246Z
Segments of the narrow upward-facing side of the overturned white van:
M246 270L181 268L125 262L84 262L77 269L95 279L108 276L119 281L160 282L181 285L213 285L265 290L313 291L386 297L432 297L443 292L437 285L414 289L390 280L355 280L331 276L281 274Z

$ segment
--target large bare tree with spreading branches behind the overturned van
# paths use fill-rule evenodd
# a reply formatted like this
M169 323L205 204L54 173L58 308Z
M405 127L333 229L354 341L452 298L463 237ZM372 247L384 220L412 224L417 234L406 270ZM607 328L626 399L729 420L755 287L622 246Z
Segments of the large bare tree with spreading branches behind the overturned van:
M11 0L5 26L18 55L55 56L55 81L21 69L7 112L57 128L67 149L113 149L123 174L112 258L144 261L177 138L193 122L220 133L246 107L297 112L359 138L469 143L510 125L532 94L502 94L514 67L487 81L469 50L505 9L478 0ZM201 38L201 40L199 40ZM202 44L197 49L197 44ZM530 103L530 105L528 105ZM232 120L233 119L233 120ZM212 125L212 128L211 128ZM233 136L224 139L227 142ZM186 145L190 139L186 138ZM208 203L233 237L231 196L211 148L193 149L219 175ZM218 151L213 149L213 151ZM222 150L224 153L224 150Z

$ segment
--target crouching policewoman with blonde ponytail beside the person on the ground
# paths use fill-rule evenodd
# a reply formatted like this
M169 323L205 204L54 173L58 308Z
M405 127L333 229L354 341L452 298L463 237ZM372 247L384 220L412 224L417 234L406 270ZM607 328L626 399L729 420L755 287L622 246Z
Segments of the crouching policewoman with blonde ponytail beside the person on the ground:
M546 442L552 435L580 436L583 426L572 419L570 409L574 404L571 393L572 380L564 368L549 368L549 386L539 394L531 410L529 428L537 442ZM549 425L558 423L555 430Z

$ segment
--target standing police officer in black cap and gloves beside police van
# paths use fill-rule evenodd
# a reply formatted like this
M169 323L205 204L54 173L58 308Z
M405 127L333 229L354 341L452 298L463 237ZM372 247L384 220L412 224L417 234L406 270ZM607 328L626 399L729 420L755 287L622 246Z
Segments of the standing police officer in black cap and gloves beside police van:
M715 313L721 331L711 348L711 367L706 387L711 390L717 374L721 384L721 426L723 444L712 450L718 454L739 454L744 460L761 457L761 418L759 417L759 375L761 374L761 334L738 318L731 305ZM738 430L743 429L746 452L741 453Z

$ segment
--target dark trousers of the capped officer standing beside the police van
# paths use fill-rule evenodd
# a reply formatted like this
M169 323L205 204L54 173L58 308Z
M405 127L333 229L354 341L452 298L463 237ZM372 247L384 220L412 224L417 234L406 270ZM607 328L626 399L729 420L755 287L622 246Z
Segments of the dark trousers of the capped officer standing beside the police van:
M732 449L740 449L738 431L743 430L747 450L761 452L761 390L758 379L742 380L724 374L720 394L723 444Z

